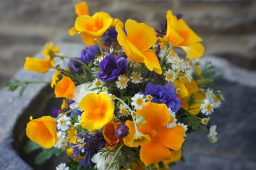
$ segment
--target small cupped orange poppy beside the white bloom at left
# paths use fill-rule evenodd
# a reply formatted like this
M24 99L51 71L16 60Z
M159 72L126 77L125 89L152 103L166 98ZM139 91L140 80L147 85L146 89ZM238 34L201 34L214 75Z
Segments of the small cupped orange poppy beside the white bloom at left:
M71 78L64 76L55 86L55 95L57 98L65 97L72 99L75 88L76 86Z

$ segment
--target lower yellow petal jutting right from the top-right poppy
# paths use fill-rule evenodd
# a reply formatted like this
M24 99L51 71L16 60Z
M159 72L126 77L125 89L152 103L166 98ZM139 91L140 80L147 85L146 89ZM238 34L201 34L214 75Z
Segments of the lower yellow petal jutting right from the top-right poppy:
M187 54L188 58L200 58L204 55L205 47L200 43L177 45L181 47Z

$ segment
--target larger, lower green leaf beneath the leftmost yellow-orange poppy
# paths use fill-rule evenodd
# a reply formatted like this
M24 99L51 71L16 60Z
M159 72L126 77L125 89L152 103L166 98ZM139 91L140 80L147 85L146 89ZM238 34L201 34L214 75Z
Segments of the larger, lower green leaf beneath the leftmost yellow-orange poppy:
M43 148L42 150L43 151L39 153L35 158L35 164L37 165L44 164L44 162L50 159L53 155L59 156L63 152L62 149L58 149L55 147L52 147L50 149Z

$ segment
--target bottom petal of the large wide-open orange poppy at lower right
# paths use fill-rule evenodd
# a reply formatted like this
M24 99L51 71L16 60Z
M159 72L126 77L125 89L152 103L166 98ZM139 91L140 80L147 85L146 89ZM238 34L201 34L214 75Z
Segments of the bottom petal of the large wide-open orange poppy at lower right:
M171 159L170 149L162 145L157 139L151 139L149 144L142 146L139 155L145 166Z

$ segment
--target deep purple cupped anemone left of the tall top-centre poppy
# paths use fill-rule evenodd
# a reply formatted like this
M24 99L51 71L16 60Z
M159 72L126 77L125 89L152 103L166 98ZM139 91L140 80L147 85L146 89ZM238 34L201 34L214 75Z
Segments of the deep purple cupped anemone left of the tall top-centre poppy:
M127 65L127 60L122 55L117 57L109 55L99 63L99 69L102 72L95 75L109 83L116 80L120 74L125 74L127 72Z

